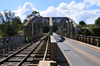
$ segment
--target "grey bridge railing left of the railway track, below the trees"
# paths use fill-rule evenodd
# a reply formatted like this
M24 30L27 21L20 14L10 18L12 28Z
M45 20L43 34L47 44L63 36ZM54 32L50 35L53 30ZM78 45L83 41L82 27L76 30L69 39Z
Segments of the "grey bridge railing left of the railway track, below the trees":
M17 35L12 37L0 38L0 53L6 53L23 45L24 36Z

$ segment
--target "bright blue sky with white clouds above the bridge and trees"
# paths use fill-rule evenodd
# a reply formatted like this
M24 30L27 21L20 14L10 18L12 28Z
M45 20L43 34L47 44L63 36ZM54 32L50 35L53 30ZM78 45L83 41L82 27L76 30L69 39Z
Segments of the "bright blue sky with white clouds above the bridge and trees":
M11 10L23 21L33 11L43 17L70 17L76 23L94 24L100 17L100 0L0 0L0 12Z

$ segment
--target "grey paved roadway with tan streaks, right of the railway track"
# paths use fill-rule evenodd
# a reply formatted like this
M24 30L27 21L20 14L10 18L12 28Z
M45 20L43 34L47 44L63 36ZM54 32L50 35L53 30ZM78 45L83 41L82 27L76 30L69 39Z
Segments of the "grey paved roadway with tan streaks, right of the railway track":
M100 48L53 33L70 66L100 66Z

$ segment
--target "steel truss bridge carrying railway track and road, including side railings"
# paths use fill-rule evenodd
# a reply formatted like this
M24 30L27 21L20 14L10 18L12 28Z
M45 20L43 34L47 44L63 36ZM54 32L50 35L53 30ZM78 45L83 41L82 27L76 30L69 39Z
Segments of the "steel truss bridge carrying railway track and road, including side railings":
M100 37L79 35L78 24L69 17L31 18L23 31L0 38L1 66L100 66Z

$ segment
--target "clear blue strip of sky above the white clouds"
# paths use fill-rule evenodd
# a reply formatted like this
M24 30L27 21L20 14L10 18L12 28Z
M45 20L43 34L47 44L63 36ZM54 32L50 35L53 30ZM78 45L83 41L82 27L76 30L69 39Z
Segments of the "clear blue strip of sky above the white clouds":
M69 4L71 1L73 0L1 0L0 11L5 9L17 10L19 6L23 7L23 5L26 2L32 3L35 8L42 11L46 10L49 6L58 7L59 4L62 2ZM82 2L83 0L75 0L75 1Z

